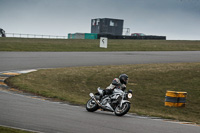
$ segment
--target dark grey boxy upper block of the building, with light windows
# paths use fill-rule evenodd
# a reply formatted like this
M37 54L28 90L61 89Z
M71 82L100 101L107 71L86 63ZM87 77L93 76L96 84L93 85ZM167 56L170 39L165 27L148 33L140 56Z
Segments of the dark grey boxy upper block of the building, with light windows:
M97 18L91 20L91 33L122 35L124 20Z

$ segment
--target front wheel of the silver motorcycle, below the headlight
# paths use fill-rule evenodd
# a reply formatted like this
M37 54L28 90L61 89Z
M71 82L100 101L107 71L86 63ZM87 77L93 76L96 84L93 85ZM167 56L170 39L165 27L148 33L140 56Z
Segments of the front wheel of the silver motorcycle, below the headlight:
M130 103L124 103L121 108L120 108L120 105L118 105L115 108L115 115L117 116L125 115L129 111L130 107L131 107Z

